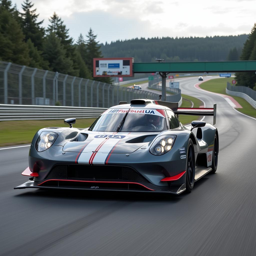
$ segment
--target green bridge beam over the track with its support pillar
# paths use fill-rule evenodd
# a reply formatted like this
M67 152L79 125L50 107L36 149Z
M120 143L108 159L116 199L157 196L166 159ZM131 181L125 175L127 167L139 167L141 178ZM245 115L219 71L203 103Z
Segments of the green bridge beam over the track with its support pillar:
M198 61L198 62L134 62L134 73L159 72L162 77L162 100L166 98L168 73L209 73L256 71L256 60L248 61Z

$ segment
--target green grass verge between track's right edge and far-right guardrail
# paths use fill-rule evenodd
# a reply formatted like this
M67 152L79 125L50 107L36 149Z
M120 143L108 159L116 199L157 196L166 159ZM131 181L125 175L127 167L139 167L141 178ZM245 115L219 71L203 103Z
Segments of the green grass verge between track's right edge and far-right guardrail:
M217 78L217 79L212 79L209 81L206 81L204 83L200 84L200 88L210 91L210 92L216 92L216 93L221 93L228 95L226 93L226 87L227 87L227 82L231 83L231 81L234 78ZM229 95L231 96L231 95ZM256 110L253 108L252 105L250 105L246 100L240 97L236 96L231 96L233 97L243 108L242 109L236 109L239 112L252 116L256 118Z

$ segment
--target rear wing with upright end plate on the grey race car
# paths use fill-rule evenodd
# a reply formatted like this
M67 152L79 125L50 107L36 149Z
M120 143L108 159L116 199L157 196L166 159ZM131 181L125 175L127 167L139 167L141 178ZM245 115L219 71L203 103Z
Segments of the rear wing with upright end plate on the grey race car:
M216 124L216 109L217 104L213 105L213 108L177 108L173 109L173 112L178 115L201 115L201 116L213 116L213 124Z

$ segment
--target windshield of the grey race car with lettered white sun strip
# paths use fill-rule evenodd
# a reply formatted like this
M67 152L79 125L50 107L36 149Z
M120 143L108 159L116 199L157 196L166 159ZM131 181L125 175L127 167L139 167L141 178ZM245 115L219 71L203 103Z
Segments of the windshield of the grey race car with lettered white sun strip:
M161 132L166 130L164 110L156 109L108 109L89 128L95 132L115 132L127 114L120 132Z

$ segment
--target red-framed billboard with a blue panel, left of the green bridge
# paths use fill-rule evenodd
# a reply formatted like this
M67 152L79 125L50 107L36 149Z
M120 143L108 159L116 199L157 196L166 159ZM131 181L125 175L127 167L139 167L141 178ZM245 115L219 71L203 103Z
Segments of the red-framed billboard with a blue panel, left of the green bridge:
M134 58L93 58L93 77L133 77Z

